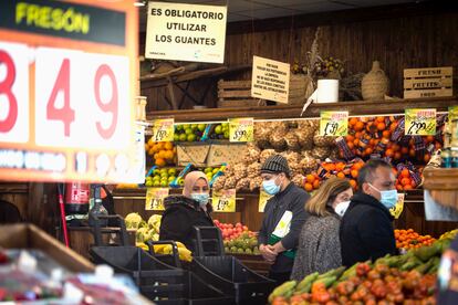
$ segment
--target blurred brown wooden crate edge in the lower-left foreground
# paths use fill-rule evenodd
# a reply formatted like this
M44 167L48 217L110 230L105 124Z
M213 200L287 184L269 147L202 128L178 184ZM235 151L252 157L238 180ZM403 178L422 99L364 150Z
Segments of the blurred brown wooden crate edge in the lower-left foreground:
M41 250L70 272L94 272L94 265L86 259L33 224L0 225L0 246Z

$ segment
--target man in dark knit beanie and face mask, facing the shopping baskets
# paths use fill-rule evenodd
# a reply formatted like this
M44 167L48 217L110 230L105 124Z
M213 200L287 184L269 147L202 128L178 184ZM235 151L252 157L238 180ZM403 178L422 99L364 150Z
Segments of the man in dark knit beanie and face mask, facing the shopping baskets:
M259 250L272 263L269 277L280 285L290 280L299 234L306 218L304 203L310 197L291 182L290 167L280 155L266 160L261 177L263 190L272 197L264 208Z

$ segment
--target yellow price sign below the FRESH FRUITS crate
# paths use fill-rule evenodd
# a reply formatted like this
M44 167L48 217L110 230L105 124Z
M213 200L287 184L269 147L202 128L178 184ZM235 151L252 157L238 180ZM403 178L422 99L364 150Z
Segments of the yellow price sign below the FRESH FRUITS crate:
M436 109L406 109L405 122L408 136L436 135Z

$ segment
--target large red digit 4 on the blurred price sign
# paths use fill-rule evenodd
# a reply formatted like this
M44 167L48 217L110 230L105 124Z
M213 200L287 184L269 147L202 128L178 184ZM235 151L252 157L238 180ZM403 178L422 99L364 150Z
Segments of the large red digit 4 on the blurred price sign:
M55 107L55 99L59 92L63 93L63 107ZM59 71L58 80L55 80L54 87L50 99L46 104L46 118L62 120L64 124L64 135L70 137L70 126L75 120L75 112L70 107L70 60L62 61L61 70Z

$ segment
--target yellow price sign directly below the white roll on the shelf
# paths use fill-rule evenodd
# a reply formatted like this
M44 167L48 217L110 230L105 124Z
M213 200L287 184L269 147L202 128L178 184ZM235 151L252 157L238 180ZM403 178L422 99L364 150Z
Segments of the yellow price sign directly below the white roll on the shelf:
M348 134L348 112L321 112L320 136L343 137Z

